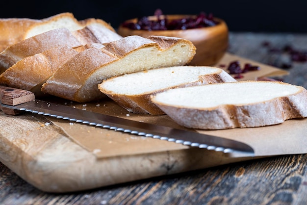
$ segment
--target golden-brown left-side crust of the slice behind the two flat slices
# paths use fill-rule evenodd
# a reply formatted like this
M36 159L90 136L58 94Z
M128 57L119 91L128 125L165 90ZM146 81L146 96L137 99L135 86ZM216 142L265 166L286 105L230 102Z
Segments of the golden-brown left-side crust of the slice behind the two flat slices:
M102 93L95 92L95 87L89 89L92 95L85 100L78 96L78 92L96 69L118 60L115 55L97 48L89 48L79 52L76 56L64 63L42 86L42 92L60 98L84 103L103 97ZM94 94L93 94L94 93Z

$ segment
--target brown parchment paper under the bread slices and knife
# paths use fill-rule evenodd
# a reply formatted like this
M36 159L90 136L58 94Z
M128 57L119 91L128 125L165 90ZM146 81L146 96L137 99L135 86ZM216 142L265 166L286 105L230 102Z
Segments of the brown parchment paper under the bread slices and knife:
M239 80L257 79L258 77L284 76L289 74L281 69L241 58L230 53L226 53L216 66L220 67L219 65L228 65L233 60L239 60L242 65L244 63L252 63L260 66L259 71L246 73L244 74L244 77ZM224 67L224 69L226 68ZM78 109L86 109L87 111L99 112L157 125L182 128L167 115L154 116L129 113L126 109L123 109L109 99L103 99L102 101L95 103L63 103L74 106ZM78 123L69 123L61 119L49 117L49 120L56 126L62 128L64 132L77 144L89 152L94 153L98 158L189 149L188 146L181 144L140 137ZM287 120L282 124L263 128L197 131L245 142L254 148L256 156L307 153L307 141L305 140L305 137L307 137L306 118Z

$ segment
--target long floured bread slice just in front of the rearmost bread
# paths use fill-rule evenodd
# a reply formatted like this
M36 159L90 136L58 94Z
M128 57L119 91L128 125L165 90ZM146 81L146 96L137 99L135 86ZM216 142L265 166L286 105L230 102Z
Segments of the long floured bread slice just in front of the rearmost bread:
M108 43L121 39L120 35L100 24L88 25L71 32L68 28L56 28L22 40L0 52L0 73L23 58L47 51L51 48L68 46L77 48L86 44Z

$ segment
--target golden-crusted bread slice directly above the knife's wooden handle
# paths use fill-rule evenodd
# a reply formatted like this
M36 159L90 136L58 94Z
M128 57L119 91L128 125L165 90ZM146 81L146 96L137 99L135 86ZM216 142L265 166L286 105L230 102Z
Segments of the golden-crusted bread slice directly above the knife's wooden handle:
M0 84L32 91L41 96L41 86L66 61L78 51L67 47L56 47L26 57L0 75Z

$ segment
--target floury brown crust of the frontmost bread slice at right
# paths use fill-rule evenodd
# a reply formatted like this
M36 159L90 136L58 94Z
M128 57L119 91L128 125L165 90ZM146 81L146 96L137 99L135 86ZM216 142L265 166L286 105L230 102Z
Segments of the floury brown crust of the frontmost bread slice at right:
M235 83L281 83L272 81L240 81ZM296 93L260 103L224 104L213 107L185 107L152 101L179 125L196 129L254 128L276 125L292 118L307 117L307 90L301 86ZM231 88L230 88L231 89Z

